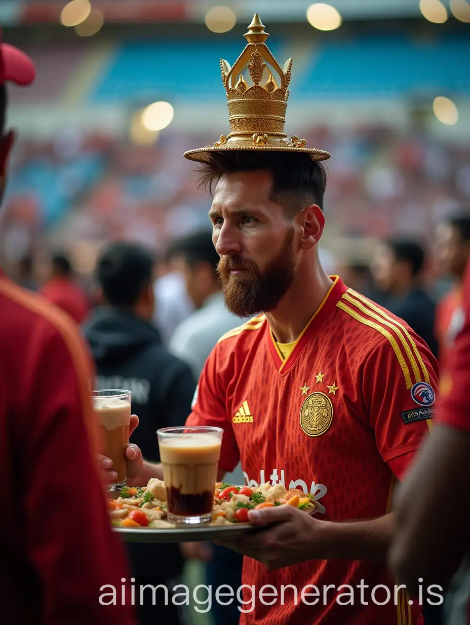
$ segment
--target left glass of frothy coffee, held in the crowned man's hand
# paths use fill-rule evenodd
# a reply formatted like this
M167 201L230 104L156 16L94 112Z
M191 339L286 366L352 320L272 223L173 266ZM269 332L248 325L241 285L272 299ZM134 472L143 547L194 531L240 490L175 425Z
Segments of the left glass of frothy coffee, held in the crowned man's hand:
M109 484L110 492L127 486L125 448L129 445L131 392L102 389L92 392L95 412L101 426L103 455L112 460L117 478Z

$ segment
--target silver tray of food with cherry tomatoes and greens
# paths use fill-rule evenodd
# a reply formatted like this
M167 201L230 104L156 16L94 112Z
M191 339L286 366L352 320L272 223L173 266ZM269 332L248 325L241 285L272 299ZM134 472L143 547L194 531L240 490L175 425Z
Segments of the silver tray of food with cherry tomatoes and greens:
M167 519L167 490L160 479L147 486L124 487L108 501L112 528L127 542L192 542L233 539L263 527L248 521L250 509L294 506L307 514L316 512L313 495L286 489L270 482L254 488L217 482L210 521L195 525L172 523Z

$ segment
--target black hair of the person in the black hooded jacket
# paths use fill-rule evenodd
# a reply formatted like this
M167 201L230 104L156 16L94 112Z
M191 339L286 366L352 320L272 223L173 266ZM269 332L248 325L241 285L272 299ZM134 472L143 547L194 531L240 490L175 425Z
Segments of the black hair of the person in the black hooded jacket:
M110 243L100 252L95 274L111 306L134 306L153 278L154 259L144 247L130 242Z

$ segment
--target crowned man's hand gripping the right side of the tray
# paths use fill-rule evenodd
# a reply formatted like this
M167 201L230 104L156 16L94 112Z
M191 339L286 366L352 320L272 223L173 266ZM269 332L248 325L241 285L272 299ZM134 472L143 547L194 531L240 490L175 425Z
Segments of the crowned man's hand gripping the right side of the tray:
M310 559L325 559L325 534L331 522L286 505L250 510L248 519L258 526L275 525L238 538L237 542L215 541L216 544L263 562L269 571Z

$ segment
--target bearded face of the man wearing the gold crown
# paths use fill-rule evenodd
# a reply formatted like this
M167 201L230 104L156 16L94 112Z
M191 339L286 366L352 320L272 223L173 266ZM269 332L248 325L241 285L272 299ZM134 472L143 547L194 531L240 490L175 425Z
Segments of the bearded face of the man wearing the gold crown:
M275 309L295 278L294 227L271 187L265 171L223 176L209 212L225 304L240 317Z

